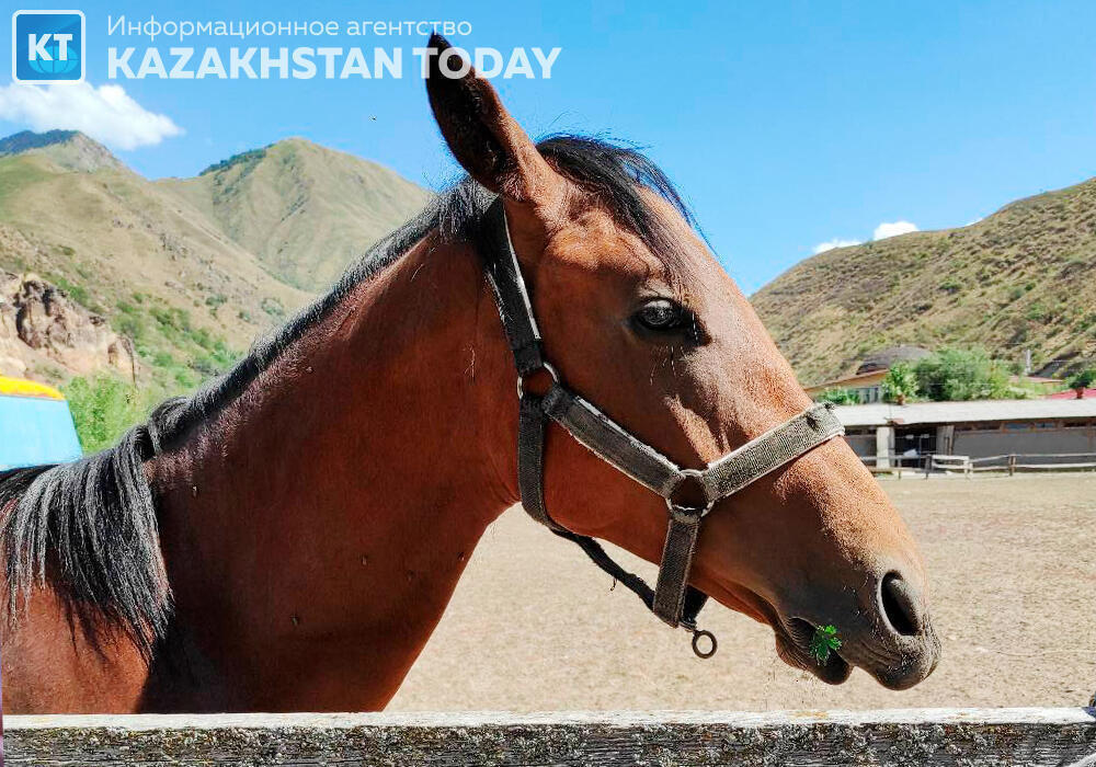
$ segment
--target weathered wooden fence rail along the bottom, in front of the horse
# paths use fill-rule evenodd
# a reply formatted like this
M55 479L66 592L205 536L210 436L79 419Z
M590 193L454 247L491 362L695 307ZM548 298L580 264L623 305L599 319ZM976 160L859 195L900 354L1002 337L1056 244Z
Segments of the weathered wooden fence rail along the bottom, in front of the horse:
M1096 766L1094 709L10 717L8 765Z

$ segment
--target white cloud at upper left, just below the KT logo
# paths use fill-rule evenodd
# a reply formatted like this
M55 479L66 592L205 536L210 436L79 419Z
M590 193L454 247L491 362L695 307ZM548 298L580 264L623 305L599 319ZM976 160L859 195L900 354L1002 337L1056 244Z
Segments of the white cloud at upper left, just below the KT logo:
M183 129L170 117L149 112L122 85L93 88L87 82L61 85L0 85L0 119L34 130L82 130L118 149L159 144Z

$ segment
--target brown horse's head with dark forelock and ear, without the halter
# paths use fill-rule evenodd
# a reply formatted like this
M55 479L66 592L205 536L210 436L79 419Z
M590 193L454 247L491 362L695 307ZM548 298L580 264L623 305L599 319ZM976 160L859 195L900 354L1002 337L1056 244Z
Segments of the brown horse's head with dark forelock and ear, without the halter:
M444 72L443 58L427 79L438 126L471 178L504 201L546 357L571 389L681 467L705 467L810 408L658 168L628 150L579 158L568 139L535 145L486 80ZM493 424L514 497L515 410L500 405ZM561 430L549 430L544 455L556 523L660 560L662 497ZM769 625L787 663L829 683L857 665L903 689L938 659L921 557L843 439L718 500L690 583ZM824 660L811 650L823 626L841 640Z

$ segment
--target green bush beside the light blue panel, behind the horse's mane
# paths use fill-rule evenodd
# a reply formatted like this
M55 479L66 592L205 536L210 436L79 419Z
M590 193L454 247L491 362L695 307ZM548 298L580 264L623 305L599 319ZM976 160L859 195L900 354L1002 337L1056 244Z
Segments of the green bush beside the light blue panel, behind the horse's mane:
M148 417L153 404L128 381L103 373L73 378L64 392L84 453L113 446L126 430Z

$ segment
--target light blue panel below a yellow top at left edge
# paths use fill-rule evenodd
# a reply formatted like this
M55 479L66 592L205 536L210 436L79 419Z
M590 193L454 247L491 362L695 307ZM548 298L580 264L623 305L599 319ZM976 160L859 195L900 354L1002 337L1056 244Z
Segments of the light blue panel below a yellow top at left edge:
M82 455L68 402L0 394L0 471Z

